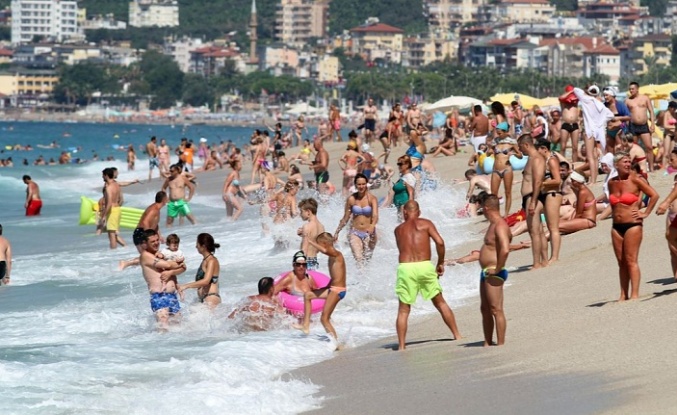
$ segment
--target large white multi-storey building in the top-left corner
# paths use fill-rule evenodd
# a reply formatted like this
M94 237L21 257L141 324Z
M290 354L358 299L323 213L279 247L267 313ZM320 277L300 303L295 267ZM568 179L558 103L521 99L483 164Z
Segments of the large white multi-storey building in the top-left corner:
M28 43L35 36L56 42L79 37L77 13L77 1L12 0L12 43Z

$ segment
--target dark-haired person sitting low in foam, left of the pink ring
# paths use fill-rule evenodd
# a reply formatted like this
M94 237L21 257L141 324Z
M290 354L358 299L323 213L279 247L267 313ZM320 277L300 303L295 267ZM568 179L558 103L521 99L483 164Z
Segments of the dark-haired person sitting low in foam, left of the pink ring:
M246 328L264 331L272 328L275 316L283 315L284 308L274 296L275 280L263 277L258 283L258 295L250 295L233 310L228 318L241 316Z

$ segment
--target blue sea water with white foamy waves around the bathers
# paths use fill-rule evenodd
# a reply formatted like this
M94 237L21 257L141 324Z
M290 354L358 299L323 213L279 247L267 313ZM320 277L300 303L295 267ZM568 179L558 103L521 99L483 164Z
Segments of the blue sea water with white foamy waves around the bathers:
M80 196L98 197L103 168L118 167L120 180L147 176L143 161L137 162L136 171L127 172L125 153L116 147L138 147L151 135L167 138L170 145L182 136L242 144L251 129L49 123L4 123L0 128L2 148L16 143L36 148L0 155L12 156L17 163L0 169L0 223L14 255L11 285L0 287L0 413L291 414L322 406L322 397L314 395L318 385L281 376L335 355L335 343L317 318L308 336L291 328L290 318L280 319L278 328L266 332L246 331L238 319L227 318L243 297L255 294L261 277L291 268L300 242L300 219L264 235L257 209L247 206L238 222L229 222L220 197L200 194L198 186L191 202L198 225L172 229L181 237L188 265L179 282L192 280L201 260L196 236L209 232L221 244L215 255L221 262L223 304L208 312L196 303L195 290L188 290L181 323L166 333L155 328L140 269L117 271L118 261L137 256L136 249L110 250L105 235L94 236L92 226L77 225ZM69 136L63 137L64 132ZM54 140L61 148L37 147ZM96 153L118 161L18 165L24 157L32 160L39 154L56 158L64 148L79 148L83 159ZM45 206L39 217L23 216L23 174L40 185ZM306 192L298 198L312 195ZM154 191L128 194L125 204L144 208L153 197ZM442 183L420 202L423 216L436 223L447 248L477 238L455 217L463 192ZM337 198L320 206L318 217L329 231L336 228L343 203ZM395 213L381 210L378 246L364 269L352 259L346 231L341 235L338 246L347 260L348 293L332 321L346 347L395 332L396 225ZM169 233L164 226L162 231ZM286 239L289 248L275 250L271 235ZM123 230L122 237L132 245L130 230ZM321 256L320 263L326 273L326 258ZM452 307L476 295L476 273L472 265L448 268L441 283ZM429 302L419 301L412 318L435 312Z

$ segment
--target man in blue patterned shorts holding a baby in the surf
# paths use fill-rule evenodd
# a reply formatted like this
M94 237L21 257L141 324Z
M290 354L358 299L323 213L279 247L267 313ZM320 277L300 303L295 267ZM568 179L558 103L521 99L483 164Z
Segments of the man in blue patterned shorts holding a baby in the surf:
M169 318L181 311L176 289L178 286L176 275L184 272L186 265L183 262L177 264L157 258L160 236L152 229L144 231L142 246L143 252L139 256L139 262L150 293L150 308L155 314L155 320L160 329L166 329L169 325ZM163 282L162 274L167 275L170 282Z

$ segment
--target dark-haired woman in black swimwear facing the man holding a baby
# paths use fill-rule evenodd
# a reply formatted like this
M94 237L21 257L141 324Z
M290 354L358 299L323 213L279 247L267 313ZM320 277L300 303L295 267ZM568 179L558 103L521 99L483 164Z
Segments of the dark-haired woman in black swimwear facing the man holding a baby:
M179 287L181 292L188 288L197 288L197 298L210 308L221 304L221 295L219 295L219 270L221 265L214 256L214 251L220 246L214 243L214 237L210 234L199 234L195 248L202 255L202 263L200 263L200 267L195 274L195 282L181 284Z

